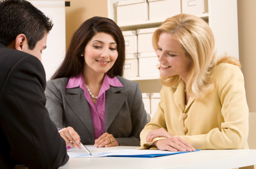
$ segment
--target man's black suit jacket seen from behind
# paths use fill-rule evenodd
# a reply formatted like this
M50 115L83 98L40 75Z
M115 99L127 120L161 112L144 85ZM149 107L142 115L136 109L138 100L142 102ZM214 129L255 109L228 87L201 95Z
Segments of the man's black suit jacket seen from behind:
M45 108L45 85L39 59L0 44L0 168L58 168L68 161Z

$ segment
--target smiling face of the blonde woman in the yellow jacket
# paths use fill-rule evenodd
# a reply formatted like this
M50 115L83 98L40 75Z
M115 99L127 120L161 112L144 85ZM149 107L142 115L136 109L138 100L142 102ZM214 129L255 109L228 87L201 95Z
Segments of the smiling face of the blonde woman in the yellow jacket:
M162 32L158 40L157 57L163 77L178 75L184 82L189 74L191 61L180 42L172 34Z

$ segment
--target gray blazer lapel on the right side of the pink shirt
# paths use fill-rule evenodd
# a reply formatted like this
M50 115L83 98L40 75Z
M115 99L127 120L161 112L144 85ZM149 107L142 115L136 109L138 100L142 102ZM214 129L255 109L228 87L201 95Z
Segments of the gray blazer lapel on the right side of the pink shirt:
M124 93L116 93L123 90L123 87L111 87L106 91L106 102L105 102L105 131L108 130L109 126L113 122L117 113L126 100Z

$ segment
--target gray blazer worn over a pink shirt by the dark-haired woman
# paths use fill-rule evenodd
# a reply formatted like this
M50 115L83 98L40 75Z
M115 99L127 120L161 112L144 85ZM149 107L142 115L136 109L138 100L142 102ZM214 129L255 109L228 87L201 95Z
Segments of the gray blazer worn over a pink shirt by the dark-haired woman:
M146 123L146 111L139 83L117 76L124 87L106 91L105 132L120 146L140 146L140 131ZM58 129L72 126L81 143L94 144L94 128L89 102L80 87L66 89L69 78L49 80L46 85L46 108Z

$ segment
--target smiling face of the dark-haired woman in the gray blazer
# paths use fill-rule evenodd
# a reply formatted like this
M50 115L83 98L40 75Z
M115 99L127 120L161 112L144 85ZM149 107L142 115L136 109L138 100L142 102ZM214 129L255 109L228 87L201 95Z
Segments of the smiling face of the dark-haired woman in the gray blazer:
M84 72L104 74L113 67L118 56L117 44L110 34L97 33L84 49Z

